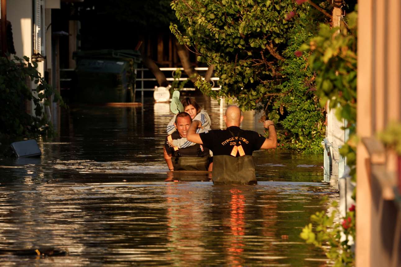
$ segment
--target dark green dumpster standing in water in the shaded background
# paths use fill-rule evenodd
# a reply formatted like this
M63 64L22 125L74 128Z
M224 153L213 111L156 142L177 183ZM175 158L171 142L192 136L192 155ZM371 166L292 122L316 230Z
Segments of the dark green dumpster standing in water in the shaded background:
M133 102L139 51L79 51L74 56L77 61L75 101Z

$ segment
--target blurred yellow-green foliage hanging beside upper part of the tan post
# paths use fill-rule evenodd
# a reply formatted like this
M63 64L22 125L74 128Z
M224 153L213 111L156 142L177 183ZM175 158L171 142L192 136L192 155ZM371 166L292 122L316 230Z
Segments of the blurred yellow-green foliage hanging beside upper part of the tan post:
M328 100L336 108L338 120L345 119L350 131L349 141L340 149L355 181L356 161L356 22L357 14L348 14L344 26L330 28L320 24L319 32L304 43L301 51L310 53L308 62L316 73L316 92L320 104Z

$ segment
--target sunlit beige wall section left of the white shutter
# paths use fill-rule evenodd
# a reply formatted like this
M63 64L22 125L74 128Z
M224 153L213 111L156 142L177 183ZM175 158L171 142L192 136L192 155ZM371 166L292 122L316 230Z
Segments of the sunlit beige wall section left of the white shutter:
M32 56L32 0L7 1L16 56Z

